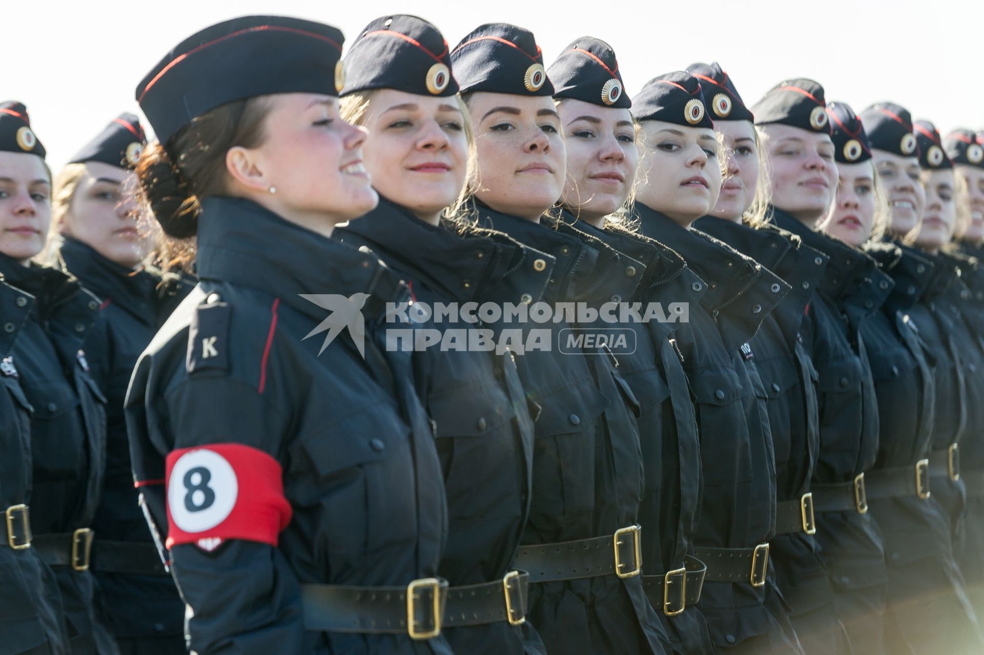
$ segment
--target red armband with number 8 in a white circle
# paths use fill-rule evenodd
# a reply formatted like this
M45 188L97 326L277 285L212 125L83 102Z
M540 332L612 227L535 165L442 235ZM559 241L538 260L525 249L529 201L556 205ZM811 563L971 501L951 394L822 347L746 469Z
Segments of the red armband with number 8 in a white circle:
M167 548L242 539L277 546L290 522L282 469L263 450L210 444L167 455Z

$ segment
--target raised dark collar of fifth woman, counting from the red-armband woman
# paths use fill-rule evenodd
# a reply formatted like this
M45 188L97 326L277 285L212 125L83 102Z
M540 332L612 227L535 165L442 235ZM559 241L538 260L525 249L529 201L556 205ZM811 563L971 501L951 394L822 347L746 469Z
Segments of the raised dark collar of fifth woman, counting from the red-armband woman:
M789 292L789 285L755 260L696 228L681 227L665 214L636 204L642 231L673 248L709 285L701 305L718 324L725 345L736 349L751 339Z

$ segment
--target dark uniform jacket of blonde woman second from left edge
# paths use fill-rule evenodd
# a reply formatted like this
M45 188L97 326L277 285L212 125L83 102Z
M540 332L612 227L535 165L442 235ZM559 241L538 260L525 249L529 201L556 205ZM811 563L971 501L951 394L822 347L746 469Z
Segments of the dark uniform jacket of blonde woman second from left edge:
M70 237L60 249L65 268L99 298L99 321L86 339L92 379L106 396L106 472L92 519L93 562L103 591L106 622L117 638L184 633L184 606L170 576L100 572L103 540L143 542L156 558L147 519L133 486L123 401L137 359L154 332L191 291L176 278L165 283L145 270L110 262ZM107 563L110 564L110 563Z

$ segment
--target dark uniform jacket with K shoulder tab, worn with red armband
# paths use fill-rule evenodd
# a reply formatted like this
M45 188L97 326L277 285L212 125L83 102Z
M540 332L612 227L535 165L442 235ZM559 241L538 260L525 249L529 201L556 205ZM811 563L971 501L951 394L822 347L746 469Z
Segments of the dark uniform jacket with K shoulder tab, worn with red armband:
M168 531L164 457L215 444L275 458L292 517L277 547L200 539L170 549L190 649L449 654L443 637L306 630L301 601L303 584L402 587L437 573L440 463L410 353L385 351L382 332L385 305L404 302L405 285L374 256L230 198L204 202L198 273L127 394L152 528ZM235 471L238 488L261 470ZM213 505L229 494L225 479L210 489Z

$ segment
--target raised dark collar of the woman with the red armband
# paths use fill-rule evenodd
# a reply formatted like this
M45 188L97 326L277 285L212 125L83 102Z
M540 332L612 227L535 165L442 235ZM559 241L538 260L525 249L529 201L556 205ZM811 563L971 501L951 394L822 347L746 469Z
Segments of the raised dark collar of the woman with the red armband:
M277 296L314 318L324 310L300 294L367 293L367 314L406 297L406 286L371 253L295 225L256 203L212 197L202 202L197 273Z

